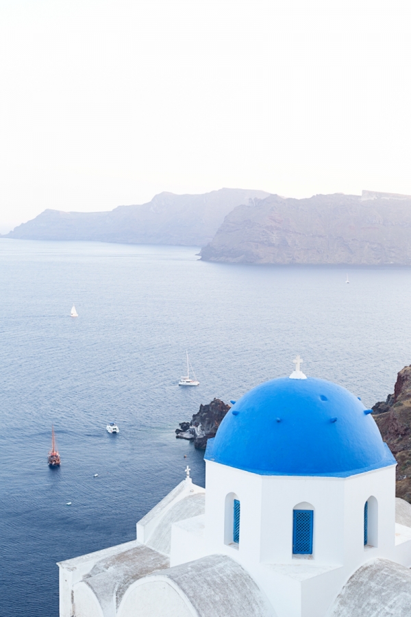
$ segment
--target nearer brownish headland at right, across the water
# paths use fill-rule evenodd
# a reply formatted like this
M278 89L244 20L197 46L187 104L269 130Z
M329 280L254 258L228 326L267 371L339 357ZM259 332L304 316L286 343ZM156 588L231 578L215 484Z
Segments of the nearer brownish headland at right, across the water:
M411 264L411 197L270 195L225 217L206 261L275 264Z

